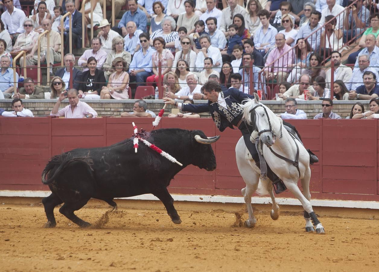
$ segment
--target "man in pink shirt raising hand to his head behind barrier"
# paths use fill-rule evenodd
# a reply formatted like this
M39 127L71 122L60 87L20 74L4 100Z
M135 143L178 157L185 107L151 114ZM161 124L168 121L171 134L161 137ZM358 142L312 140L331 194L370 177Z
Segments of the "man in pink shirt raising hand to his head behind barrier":
M59 105L66 98L66 92L70 105L58 110ZM97 112L86 102L79 101L78 90L70 89L61 93L58 101L50 112L50 116L64 116L65 118L96 118Z

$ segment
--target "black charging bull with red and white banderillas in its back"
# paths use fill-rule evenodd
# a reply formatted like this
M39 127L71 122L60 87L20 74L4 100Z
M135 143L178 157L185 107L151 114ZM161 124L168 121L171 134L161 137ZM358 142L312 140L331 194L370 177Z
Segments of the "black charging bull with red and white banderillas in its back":
M145 193L159 198L172 222L180 224L182 221L166 187L189 164L215 170L216 158L209 144L218 138L207 138L201 130L183 129L158 129L146 136L146 140L182 163L182 167L141 142L135 154L132 138L111 146L79 148L52 157L42 172L42 183L48 184L52 191L42 200L48 220L45 227L56 226L54 208L62 203L61 214L86 227L91 224L77 217L74 211L81 209L90 198L104 200L117 209L113 198Z

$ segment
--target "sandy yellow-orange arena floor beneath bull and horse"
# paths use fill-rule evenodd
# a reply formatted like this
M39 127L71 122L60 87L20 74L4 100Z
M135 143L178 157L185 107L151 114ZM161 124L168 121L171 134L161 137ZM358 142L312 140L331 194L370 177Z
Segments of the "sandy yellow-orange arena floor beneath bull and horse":
M116 200L117 202L117 200ZM197 204L199 205L199 204ZM154 209L83 208L76 214L98 228L80 229L55 209L57 227L38 203L0 203L2 271L378 271L379 220L319 217L327 234L304 232L299 213L271 220L222 209L178 209L182 224ZM317 213L317 212L316 212ZM101 219L100 219L101 218ZM108 222L107 222L108 221Z

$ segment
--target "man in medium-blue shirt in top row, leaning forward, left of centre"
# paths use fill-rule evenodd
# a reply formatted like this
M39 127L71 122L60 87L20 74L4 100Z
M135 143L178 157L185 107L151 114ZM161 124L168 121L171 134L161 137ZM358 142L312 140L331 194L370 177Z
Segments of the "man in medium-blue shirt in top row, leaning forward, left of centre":
M138 8L137 0L128 0L129 10L124 13L121 18L121 21L118 24L118 27L114 26L112 29L117 31L120 35L125 37L128 32L126 30L126 24L129 21L133 21L137 25L137 29L146 31L147 19L146 14L142 9Z

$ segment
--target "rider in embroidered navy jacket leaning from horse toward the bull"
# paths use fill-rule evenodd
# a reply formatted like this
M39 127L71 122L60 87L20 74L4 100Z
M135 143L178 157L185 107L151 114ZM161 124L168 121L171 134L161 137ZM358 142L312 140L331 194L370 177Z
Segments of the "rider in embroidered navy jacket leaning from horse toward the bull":
M186 112L210 112L213 121L215 122L217 128L221 132L224 131L227 127L230 127L231 129L235 129L234 127L237 127L239 130L241 130L245 145L249 150L252 158L254 159L255 164L257 164L257 166L260 168L260 160L257 149L250 140L251 133L254 130L254 127L247 125L244 122L242 118L243 108L239 105L242 104L242 101L244 101L247 98L254 99L254 96L245 94L237 90L236 88L230 88L229 90L221 91L221 86L219 85L219 83L211 80L202 86L201 91L208 97L207 104L182 104L177 103L177 101L174 101L173 99L167 97L164 97L163 101L166 104L175 105L182 111ZM286 122L283 122L283 124L293 129L296 132L296 134L298 134L298 137L301 139L298 131L294 126ZM318 162L318 158L315 156L315 154L310 152L309 149L308 152L310 156L310 164ZM267 176L273 182L274 189L277 194L283 192L286 189L283 182L269 168L268 165Z

